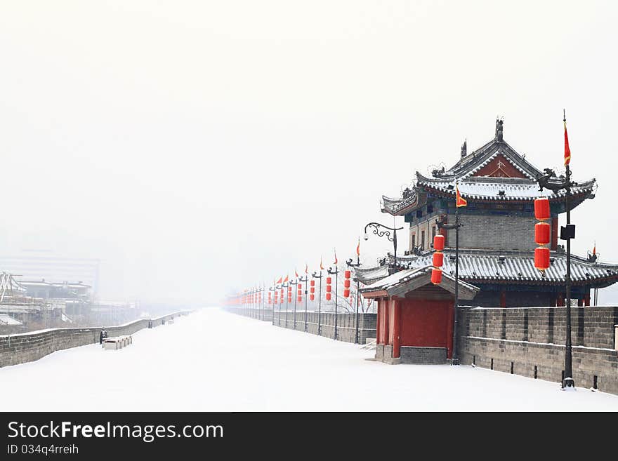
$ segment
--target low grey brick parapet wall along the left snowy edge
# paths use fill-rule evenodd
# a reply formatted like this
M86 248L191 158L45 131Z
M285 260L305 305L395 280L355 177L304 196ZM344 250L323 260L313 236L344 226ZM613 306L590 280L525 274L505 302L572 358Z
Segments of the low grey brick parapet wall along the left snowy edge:
M110 336L131 335L143 328L148 328L149 321L152 321L152 326L155 327L169 319L188 313L188 311L183 311L156 319L140 319L107 328L107 333ZM17 335L1 335L0 367L35 361L55 351L96 343L99 341L100 331L98 327L52 328Z

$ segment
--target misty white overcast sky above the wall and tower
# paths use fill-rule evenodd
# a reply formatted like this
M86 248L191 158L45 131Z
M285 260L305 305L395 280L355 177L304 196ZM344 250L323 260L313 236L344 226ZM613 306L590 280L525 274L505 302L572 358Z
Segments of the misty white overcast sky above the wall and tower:
M497 115L560 170L565 107L574 179L599 184L574 250L618 262L615 5L2 0L0 253L100 258L105 298L213 302L352 256L393 223L381 194Z

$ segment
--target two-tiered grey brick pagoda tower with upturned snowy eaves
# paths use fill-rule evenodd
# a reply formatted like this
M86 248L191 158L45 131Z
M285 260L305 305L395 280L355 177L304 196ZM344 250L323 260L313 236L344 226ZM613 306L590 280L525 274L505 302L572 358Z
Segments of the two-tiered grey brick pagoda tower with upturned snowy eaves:
M480 288L468 305L485 307L561 306L565 300L566 254L558 241L558 216L566 212L565 191L539 189L539 171L503 138L503 122L496 121L494 138L468 154L467 142L459 160L448 170L434 170L428 178L418 171L414 185L399 199L382 197L382 212L403 216L409 223L409 249L397 257L399 269L431 265L433 236L445 235L445 274L454 274L454 230L438 229L437 221L454 222L455 183L468 206L459 208L459 278ZM549 182L560 178L549 177ZM596 180L577 183L570 197L571 210L594 198ZM551 204L551 266L534 267L534 199L546 196ZM388 276L394 263L387 254L376 267L359 267L362 283ZM618 281L618 265L601 264L596 255L572 255L572 298L590 305L593 288Z

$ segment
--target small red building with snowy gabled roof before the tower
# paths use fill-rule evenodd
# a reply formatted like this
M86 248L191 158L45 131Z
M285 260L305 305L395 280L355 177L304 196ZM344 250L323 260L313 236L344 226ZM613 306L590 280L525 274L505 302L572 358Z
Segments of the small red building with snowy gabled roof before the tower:
M453 352L455 279L431 283L431 266L395 272L361 290L378 302L376 359L386 363L446 363ZM480 288L459 281L459 300Z

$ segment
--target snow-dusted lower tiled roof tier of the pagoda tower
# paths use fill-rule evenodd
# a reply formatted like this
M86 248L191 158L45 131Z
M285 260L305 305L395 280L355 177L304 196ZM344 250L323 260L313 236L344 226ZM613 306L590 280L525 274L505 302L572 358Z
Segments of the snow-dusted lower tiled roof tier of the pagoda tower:
M454 274L454 249L445 249L444 274ZM397 256L397 266L414 269L430 265L433 251L423 255ZM459 250L459 277L471 283L516 283L516 284L551 284L565 282L567 272L566 254L551 252L551 265L541 273L534 267L534 251L523 250ZM388 254L386 264L394 262L393 255ZM376 276L383 274L386 266L364 268L357 272L362 283L375 283ZM388 269L386 269L388 270ZM367 279L365 279L367 276ZM585 258L571 256L571 280L574 284L590 285L597 288L610 286L618 280L618 265L588 262Z

